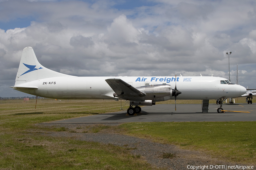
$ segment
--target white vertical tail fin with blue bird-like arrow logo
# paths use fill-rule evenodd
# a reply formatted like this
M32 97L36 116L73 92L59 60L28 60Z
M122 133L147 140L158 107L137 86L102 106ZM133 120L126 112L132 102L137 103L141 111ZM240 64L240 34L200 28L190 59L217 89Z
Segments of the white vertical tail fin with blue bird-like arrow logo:
M20 65L15 79L15 86L29 81L50 77L70 76L47 69L42 66L32 47L26 47L22 51Z

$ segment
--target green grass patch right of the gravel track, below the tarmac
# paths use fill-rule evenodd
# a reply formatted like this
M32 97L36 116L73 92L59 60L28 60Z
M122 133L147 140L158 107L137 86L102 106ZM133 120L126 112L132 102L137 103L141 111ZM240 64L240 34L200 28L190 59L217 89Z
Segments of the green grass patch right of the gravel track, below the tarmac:
M200 150L213 158L252 164L256 160L255 127L256 122L143 122L118 128L128 135Z

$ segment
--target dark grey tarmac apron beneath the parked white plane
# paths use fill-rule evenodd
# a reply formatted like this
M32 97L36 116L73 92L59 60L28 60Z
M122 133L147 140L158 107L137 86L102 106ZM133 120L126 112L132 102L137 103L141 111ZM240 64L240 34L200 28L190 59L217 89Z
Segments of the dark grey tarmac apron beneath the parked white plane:
M44 124L90 124L90 123L125 123L125 122L215 122L215 121L256 121L256 103L223 104L227 111L247 111L218 113L220 105L209 104L208 113L202 113L201 104L158 104L142 107L135 116L126 115L127 111L96 114L79 118L45 122Z

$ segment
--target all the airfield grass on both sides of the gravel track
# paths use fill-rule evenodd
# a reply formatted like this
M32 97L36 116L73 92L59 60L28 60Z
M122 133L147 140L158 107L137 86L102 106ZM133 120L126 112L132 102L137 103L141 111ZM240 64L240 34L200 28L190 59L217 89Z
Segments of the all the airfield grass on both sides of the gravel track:
M244 98L239 99L240 103L245 103ZM193 101L177 101L182 102ZM35 100L1 101L0 169L156 169L129 154L125 148L45 137L40 133L68 129L35 125L119 110L120 102L109 100L44 99L37 101L36 109ZM255 122L138 122L122 124L114 130L181 148L201 150L232 162L252 164L256 159Z

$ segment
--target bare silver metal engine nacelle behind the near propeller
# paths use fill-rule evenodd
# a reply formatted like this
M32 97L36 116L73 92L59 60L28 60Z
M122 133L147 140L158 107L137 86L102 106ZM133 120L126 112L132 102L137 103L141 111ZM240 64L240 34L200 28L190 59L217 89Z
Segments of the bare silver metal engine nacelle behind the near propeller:
M175 90L169 84L142 86L137 89L146 94L145 100L166 101L175 95Z

